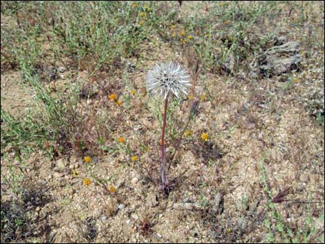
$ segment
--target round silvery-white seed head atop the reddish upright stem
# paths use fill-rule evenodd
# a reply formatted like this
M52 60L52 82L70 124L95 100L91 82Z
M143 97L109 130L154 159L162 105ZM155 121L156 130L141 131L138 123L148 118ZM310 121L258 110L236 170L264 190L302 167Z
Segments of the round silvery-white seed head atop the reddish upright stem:
M187 71L180 64L159 64L147 75L147 90L154 95L163 96L164 99L169 93L180 97L187 95L187 88L191 86L189 79Z

